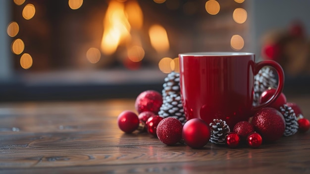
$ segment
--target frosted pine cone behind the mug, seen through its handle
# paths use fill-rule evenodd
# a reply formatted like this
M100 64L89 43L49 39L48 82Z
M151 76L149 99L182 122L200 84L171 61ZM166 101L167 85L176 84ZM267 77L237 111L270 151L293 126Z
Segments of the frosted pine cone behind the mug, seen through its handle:
M254 77L254 101L253 105L259 104L259 98L262 92L268 88L276 88L277 80L273 71L269 67L263 67L259 70L258 74Z

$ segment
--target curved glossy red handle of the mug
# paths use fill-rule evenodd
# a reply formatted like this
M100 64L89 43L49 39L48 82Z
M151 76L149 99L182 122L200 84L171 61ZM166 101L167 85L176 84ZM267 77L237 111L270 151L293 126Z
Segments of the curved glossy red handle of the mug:
M279 63L273 60L263 60L258 63L256 63L255 69L254 69L254 75L258 74L259 70L264 67L264 66L271 66L273 67L278 74L279 82L278 82L278 87L275 91L275 93L271 96L271 98L266 101L265 103L259 104L258 106L255 106L252 108L252 111L258 111L261 108L266 107L268 104L272 103L275 101L280 94L282 93L283 87L284 87L284 71Z

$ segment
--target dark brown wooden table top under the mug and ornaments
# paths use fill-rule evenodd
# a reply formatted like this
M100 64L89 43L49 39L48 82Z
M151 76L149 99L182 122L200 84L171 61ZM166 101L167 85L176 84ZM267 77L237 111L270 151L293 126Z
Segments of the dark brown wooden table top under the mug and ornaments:
M290 97L310 118L310 96ZM0 104L1 174L310 173L310 131L258 149L166 146L125 134L116 119L134 100Z

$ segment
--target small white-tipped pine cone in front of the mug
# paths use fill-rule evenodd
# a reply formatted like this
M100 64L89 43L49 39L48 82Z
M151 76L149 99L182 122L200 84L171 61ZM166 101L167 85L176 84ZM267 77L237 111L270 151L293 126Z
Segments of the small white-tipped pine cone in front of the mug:
M213 122L209 124L211 137L210 142L215 144L225 144L225 138L230 132L229 126L226 124L226 121L221 119L213 119Z

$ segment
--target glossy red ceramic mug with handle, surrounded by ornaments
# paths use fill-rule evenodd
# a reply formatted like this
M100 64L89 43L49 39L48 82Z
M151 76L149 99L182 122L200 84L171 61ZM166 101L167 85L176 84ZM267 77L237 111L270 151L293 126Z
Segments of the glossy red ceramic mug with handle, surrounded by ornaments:
M259 109L268 106L284 86L282 67L275 61L255 62L253 53L207 52L179 54L180 87L187 120L214 118L229 127L249 120ZM263 66L274 67L278 74L275 94L263 104L253 106L254 76Z

